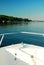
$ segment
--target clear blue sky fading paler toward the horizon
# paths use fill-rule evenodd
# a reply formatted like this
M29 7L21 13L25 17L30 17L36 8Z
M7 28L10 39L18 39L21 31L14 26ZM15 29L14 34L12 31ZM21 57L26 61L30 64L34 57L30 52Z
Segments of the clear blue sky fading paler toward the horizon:
M0 14L44 20L44 0L0 0Z

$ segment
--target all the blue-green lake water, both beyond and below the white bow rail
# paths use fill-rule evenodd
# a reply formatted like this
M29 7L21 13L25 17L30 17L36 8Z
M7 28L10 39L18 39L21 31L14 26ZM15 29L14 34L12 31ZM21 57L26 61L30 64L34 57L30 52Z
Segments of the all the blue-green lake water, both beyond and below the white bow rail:
M5 35L1 46L7 46L15 43L30 43L39 46L44 46L44 36L34 34L23 34L20 32L35 32L44 34L44 22L27 22L22 24L0 26L0 34L2 33L16 33L12 35Z

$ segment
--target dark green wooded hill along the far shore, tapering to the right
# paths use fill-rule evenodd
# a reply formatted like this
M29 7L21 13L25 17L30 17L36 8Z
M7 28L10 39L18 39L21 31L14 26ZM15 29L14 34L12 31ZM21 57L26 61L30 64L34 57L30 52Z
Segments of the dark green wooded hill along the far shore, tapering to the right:
M27 18L18 18L13 16L7 15L0 15L0 24L15 24L15 23L22 23L22 22L30 22Z

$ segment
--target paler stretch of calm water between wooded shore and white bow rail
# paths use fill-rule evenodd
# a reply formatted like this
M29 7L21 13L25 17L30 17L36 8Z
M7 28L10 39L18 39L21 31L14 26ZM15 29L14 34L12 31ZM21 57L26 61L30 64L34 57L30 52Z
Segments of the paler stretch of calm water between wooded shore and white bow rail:
M0 26L0 33L22 32L22 31L44 33L44 22L28 22L24 24Z

